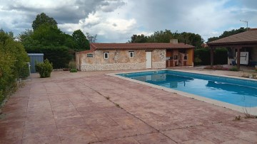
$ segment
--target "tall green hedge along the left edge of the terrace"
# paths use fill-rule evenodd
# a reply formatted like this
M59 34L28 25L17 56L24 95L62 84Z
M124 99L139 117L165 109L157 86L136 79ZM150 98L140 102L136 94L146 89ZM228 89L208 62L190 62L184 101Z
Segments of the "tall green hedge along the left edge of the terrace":
M29 57L21 43L0 31L0 105L6 96L15 92L17 79L26 77L24 67Z

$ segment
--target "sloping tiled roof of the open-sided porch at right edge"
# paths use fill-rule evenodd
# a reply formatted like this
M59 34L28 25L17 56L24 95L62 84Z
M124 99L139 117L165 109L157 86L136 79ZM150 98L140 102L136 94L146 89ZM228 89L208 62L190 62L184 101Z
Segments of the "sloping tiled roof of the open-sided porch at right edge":
M252 28L243 33L238 33L236 35L231 35L226 38L221 38L219 40L214 40L208 45L222 45L222 44L251 44L257 43L257 28Z

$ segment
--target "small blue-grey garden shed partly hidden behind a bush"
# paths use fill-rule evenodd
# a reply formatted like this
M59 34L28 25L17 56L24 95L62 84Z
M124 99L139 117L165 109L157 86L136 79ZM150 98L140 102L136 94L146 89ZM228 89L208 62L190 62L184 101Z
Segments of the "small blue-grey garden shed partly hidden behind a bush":
M36 73L36 62L44 62L44 53L28 53L31 73Z

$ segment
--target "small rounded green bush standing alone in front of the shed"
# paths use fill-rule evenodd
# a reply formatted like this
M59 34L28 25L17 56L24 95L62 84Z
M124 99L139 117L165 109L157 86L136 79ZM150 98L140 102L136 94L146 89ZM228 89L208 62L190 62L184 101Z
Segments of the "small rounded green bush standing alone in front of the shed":
M53 64L49 60L44 60L44 62L36 63L36 72L39 72L41 78L51 77L51 72L53 71Z

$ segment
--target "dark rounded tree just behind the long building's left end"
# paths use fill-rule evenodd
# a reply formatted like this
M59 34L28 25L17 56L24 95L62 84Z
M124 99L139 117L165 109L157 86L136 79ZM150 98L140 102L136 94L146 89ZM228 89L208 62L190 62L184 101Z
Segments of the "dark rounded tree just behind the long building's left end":
M86 39L86 36L81 30L76 30L72 33L72 37L76 43L76 50L89 50L89 40Z

